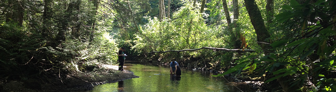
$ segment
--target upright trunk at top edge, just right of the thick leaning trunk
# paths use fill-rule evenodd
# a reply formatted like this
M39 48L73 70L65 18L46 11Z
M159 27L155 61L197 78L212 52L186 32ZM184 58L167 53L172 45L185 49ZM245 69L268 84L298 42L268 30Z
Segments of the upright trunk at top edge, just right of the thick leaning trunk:
M273 15L274 15L274 0L266 0L266 18L267 25L272 23Z

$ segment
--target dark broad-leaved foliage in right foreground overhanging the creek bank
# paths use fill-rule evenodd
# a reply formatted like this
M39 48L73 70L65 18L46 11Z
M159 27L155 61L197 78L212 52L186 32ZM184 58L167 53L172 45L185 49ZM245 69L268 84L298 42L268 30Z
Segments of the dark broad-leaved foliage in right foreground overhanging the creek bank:
M332 0L312 3L290 0L290 4L284 5L282 13L275 18L277 23L283 25L278 26L282 30L273 35L276 38L271 44L275 48L274 53L240 59L236 61L235 67L218 76L240 73L251 67L251 70L255 70L256 66L257 71L262 71L261 74L268 72L274 75L265 82L292 76L293 79L288 79L293 81L290 84L292 86L311 82L314 85L308 87L308 90L335 90L335 16L328 12L336 10L333 7L335 4Z

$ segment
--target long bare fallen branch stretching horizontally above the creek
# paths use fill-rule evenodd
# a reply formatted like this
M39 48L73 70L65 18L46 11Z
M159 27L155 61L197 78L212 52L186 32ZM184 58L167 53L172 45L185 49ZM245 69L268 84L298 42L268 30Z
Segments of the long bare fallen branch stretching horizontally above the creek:
M227 51L227 52L255 52L254 50L242 50L242 49L225 49L225 48L212 48L212 47L202 47L198 49L185 49L185 50L170 50L170 51L163 51L163 52L150 52L150 53L166 53L166 52L184 52L184 51L196 51L201 49L210 49L210 50L216 50L216 51Z

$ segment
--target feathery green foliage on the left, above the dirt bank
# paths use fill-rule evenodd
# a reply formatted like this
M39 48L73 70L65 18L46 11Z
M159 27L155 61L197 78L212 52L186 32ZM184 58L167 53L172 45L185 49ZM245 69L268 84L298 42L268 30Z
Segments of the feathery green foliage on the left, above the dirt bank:
M13 9L3 5L9 1L0 2L1 10ZM94 1L20 3L25 9L22 26L17 21L6 20L8 16L0 16L1 78L64 80L69 74L84 72L88 66L116 63L117 44L105 25L95 22Z

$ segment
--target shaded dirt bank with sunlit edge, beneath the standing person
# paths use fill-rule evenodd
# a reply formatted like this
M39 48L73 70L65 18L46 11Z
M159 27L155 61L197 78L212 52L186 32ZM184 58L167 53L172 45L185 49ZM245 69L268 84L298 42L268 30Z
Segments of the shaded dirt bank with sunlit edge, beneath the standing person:
M25 87L21 81L6 81L0 80L1 92L83 92L93 88L94 85L112 83L121 80L139 78L133 75L131 71L117 71L118 66L100 65L99 69L94 71L79 72L74 75L69 75L67 80L62 80L61 84L50 83L31 83L30 85L41 85L35 89Z

